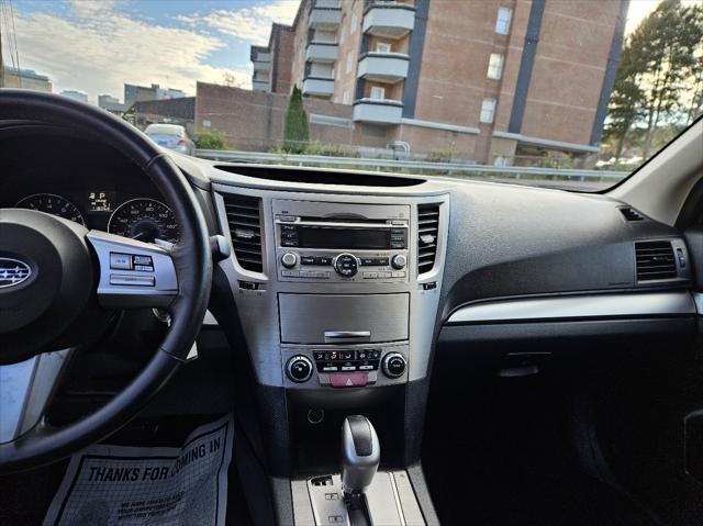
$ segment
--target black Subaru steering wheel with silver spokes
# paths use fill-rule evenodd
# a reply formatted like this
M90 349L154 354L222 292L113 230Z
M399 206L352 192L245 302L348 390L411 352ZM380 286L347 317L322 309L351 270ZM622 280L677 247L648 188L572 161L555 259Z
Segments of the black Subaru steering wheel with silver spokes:
M0 209L0 473L65 458L134 417L185 361L212 279L210 237L192 189L146 136L98 108L23 90L0 90L5 120L72 130L131 158L172 209L180 238L160 247L43 212ZM45 418L52 395L96 320L107 310L148 306L166 310L170 326L146 367L101 409L53 427Z

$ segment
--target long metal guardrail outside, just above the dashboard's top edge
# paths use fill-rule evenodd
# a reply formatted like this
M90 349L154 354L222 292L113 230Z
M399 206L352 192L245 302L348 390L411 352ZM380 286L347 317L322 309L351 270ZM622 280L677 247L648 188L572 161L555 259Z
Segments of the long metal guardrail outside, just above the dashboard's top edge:
M235 152L222 149L197 149L196 156L210 160L239 161L239 163L264 163L278 165L298 166L334 166L348 168L376 168L377 170L410 169L421 171L440 171L446 175L456 174L482 174L500 175L509 178L521 176L551 176L558 179L599 179L618 181L625 178L626 171L606 170L582 170L582 169L560 169L540 168L534 166L492 166L492 165L470 165L466 163L432 163L419 160L394 160L394 159L372 159L364 157L332 157L325 155L288 155L268 154L257 152Z

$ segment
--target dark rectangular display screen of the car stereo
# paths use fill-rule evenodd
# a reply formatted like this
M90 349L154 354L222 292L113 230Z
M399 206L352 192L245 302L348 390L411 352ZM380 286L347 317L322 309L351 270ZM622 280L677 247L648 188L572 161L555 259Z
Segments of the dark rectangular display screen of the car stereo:
M301 226L298 228L298 246L301 248L387 249L391 246L391 231Z

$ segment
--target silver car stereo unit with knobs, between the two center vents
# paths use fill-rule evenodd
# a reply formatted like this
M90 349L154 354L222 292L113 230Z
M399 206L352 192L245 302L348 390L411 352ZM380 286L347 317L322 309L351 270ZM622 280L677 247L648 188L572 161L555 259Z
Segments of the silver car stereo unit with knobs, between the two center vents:
M405 282L405 205L274 201L280 281Z

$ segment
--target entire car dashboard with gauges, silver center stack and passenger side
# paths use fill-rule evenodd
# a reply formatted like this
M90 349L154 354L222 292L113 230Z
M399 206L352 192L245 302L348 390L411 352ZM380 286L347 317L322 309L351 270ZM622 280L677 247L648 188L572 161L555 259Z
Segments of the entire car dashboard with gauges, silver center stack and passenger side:
M30 136L0 131L0 208L178 242L166 201L130 159L65 132ZM392 445L388 466L419 461L440 355L455 373L445 381L460 383L479 362L533 374L546 360L623 338L695 332L683 234L605 195L171 156L216 242L215 265L197 342L203 360L185 367L147 415L225 413L252 401L237 410L252 455L287 478L294 502L309 502L306 480L334 462L338 441L331 447L316 427L325 412L332 422L372 418ZM59 396L62 417L75 418L76 401L94 402L105 385L103 394L114 392L124 361L136 363L133 373L148 359L167 327L163 313L142 314L122 314L110 359L87 361L91 381Z

